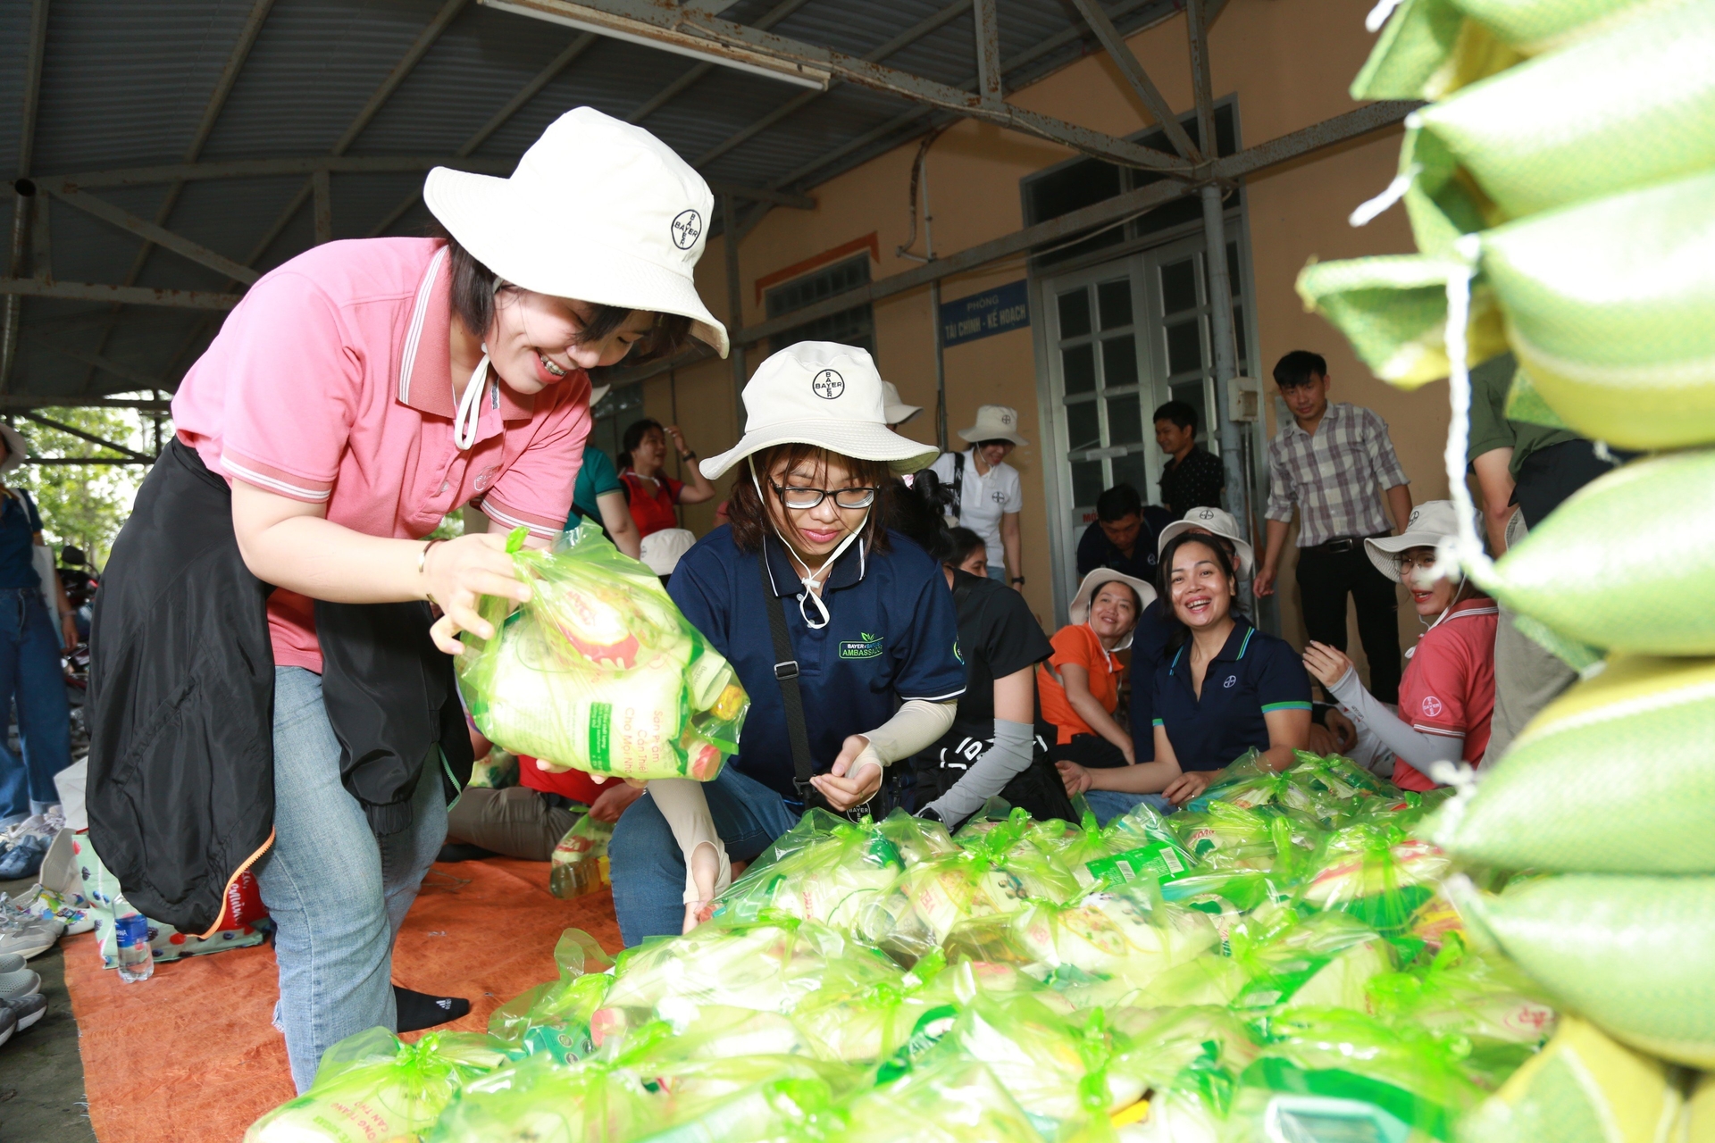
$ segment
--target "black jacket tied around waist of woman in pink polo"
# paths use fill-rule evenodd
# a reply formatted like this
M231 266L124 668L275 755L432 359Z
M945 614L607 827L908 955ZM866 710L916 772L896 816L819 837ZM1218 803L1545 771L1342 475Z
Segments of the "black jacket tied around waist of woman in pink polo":
M238 554L232 490L173 440L137 492L89 634L89 840L125 900L213 931L274 821L273 591ZM317 603L340 778L377 835L410 824L439 742L458 781L470 739L425 603Z

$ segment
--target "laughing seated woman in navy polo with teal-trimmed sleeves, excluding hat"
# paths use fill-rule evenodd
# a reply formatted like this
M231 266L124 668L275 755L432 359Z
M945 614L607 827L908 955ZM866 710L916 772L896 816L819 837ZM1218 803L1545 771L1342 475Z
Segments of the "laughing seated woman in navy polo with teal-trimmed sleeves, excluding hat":
M1161 550L1161 589L1182 632L1156 668L1156 759L1120 769L1063 764L1074 793L1111 790L1132 795L1128 805L1161 793L1183 805L1245 751L1285 769L1310 737L1310 679L1285 639L1233 610L1238 571L1219 538L1173 536Z

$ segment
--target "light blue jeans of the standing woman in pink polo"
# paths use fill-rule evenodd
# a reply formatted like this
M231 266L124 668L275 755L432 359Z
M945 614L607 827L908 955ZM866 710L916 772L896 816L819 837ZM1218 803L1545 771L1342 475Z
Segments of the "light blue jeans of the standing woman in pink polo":
M340 785L340 740L321 675L274 668L274 845L257 864L274 917L280 1006L292 1081L304 1092L322 1052L364 1028L393 1030L393 939L446 840L441 771L424 766L410 829L376 838Z

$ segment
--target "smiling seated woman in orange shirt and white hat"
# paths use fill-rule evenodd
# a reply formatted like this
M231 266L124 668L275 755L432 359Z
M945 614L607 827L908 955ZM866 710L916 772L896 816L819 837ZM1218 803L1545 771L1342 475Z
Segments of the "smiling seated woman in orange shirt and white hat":
M1125 667L1116 651L1132 646L1137 617L1156 589L1111 567L1084 576L1072 605L1072 622L1055 632L1055 653L1036 668L1043 720L1053 730L1048 757L1080 766L1130 766L1132 735L1113 720Z

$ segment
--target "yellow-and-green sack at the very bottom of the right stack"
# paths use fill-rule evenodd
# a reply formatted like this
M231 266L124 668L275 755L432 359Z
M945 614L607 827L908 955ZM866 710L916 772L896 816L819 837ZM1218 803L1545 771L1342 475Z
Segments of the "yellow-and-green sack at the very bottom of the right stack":
M1461 1124L1465 1143L1657 1143L1681 1110L1672 1071L1568 1016ZM1677 1138L1677 1136L1665 1136Z

